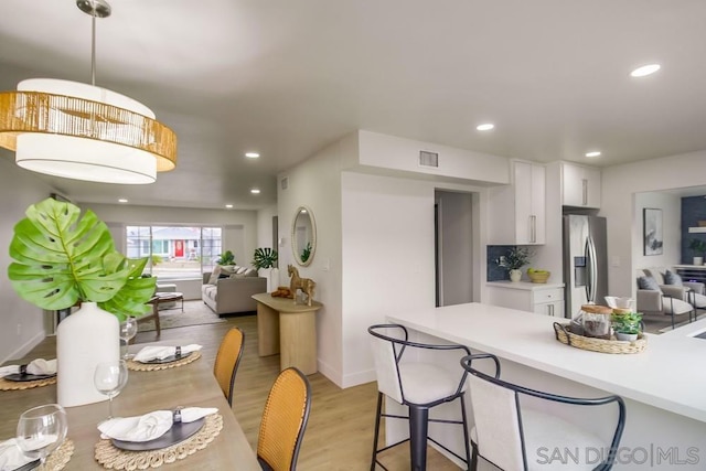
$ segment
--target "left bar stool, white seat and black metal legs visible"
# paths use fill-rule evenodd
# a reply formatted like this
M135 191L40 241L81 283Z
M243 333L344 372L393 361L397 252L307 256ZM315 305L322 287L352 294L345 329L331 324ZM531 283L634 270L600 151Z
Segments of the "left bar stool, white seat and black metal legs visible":
M468 427L466 419L466 402L463 399L466 390L467 372L460 368L443 368L437 364L403 360L403 354L407 351L431 351L449 352L460 351L459 354L470 355L470 350L464 345L435 345L410 342L407 329L399 324L376 324L371 325L367 332L372 335L373 355L375 357L375 372L377 375L377 411L375 415L375 438L373 441L373 457L371 460L371 471L379 464L387 470L377 459L377 454L400 443L409 441L410 469L422 471L427 468L427 440L432 441L449 453L462 460L468 465L470 463L470 447ZM441 353L442 354L442 353ZM448 354L448 353L447 353ZM414 353L408 356L414 358ZM408 416L384 414L383 396L407 406ZM461 405L461 420L447 420L429 418L429 409L443 403L459 399ZM384 448L377 448L379 437L381 417L408 419L409 438ZM463 429L463 442L466 446L466 457L461 457L446 446L428 437L428 424L454 424Z

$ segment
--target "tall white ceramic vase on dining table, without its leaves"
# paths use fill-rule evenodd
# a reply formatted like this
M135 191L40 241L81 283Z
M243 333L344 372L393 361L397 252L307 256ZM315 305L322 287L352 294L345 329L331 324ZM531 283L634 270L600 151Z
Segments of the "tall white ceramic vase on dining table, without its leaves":
M96 365L120 360L120 323L95 302L84 302L56 328L56 402L63 407L106 400L93 382Z

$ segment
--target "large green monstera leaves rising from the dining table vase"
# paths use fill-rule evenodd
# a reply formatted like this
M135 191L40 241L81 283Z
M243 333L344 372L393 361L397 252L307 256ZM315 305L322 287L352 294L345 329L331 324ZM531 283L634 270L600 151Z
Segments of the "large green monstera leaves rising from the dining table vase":
M149 310L145 302L156 280L132 279L147 259L128 260L116 251L108 227L95 213L86 211L82 217L77 206L46 199L25 214L14 226L10 243L14 261L8 268L21 298L46 310L98 302L118 318ZM125 304L118 306L120 300Z

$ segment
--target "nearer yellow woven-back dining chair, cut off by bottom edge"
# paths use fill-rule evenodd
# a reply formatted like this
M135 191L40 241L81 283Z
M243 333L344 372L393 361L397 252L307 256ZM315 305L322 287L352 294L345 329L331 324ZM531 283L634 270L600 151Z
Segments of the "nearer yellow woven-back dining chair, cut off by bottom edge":
M257 438L257 460L265 471L295 471L309 421L311 385L299 370L282 371L272 385Z

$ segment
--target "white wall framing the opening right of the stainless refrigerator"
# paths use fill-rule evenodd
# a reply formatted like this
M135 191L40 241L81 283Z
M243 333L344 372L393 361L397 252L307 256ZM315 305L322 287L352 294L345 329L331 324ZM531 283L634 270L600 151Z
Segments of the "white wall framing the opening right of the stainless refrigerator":
M706 151L602 170L600 214L608 218L608 289L611 293L634 296L634 271L638 263L644 261L637 255L642 250L642 215L634 205L634 194L704 184Z

